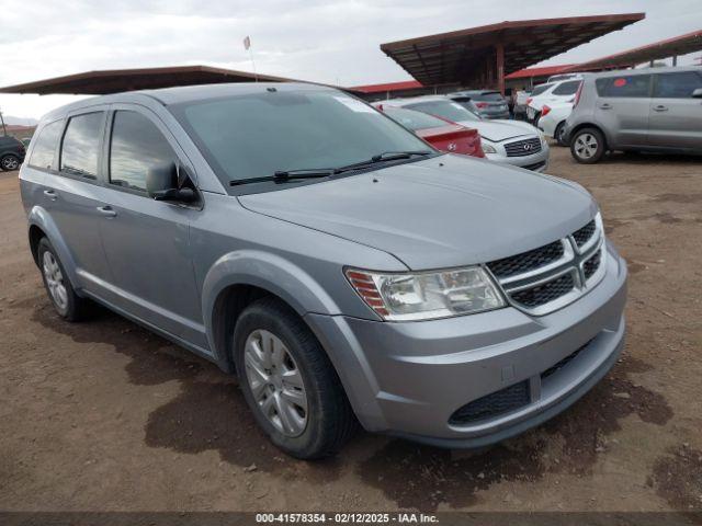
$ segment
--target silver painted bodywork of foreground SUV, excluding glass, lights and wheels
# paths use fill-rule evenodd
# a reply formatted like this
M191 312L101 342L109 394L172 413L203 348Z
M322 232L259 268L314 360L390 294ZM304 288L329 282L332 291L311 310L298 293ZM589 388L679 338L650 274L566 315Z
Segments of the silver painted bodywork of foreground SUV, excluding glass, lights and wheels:
M30 228L48 237L77 294L231 371L222 299L233 286L263 288L317 335L367 430L445 446L485 445L519 433L565 409L609 370L623 344L626 283L625 264L609 243L601 282L545 316L507 307L383 322L343 276L347 266L407 272L480 264L565 238L598 209L581 186L446 155L229 195L168 104L265 87L112 95L43 119L39 128L94 108L141 112L189 167L203 201L200 209L184 208L110 186L104 151L92 182L59 174L56 160L50 170L25 163L20 182ZM575 366L537 380L586 342ZM534 396L528 407L475 426L449 424L458 407L522 379ZM273 387L280 395L283 384Z

